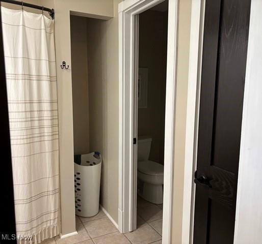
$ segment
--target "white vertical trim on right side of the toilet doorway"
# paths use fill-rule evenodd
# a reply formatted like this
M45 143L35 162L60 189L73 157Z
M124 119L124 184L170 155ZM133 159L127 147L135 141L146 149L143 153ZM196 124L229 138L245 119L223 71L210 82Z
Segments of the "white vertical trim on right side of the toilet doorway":
M178 0L168 3L167 83L164 151L164 202L162 243L172 241L174 196L175 105L177 70Z

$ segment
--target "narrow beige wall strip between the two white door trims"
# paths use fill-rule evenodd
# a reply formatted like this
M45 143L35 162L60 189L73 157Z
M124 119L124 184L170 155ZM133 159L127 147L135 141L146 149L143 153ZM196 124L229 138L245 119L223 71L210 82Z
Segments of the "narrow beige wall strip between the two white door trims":
M172 244L182 243L186 111L192 0L179 1Z

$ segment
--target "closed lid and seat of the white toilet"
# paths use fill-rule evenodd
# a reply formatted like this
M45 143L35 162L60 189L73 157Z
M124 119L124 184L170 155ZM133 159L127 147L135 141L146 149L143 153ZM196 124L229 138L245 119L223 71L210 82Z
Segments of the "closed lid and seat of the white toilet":
M163 176L164 165L150 160L139 161L138 171L140 171L143 174L148 174L153 176Z

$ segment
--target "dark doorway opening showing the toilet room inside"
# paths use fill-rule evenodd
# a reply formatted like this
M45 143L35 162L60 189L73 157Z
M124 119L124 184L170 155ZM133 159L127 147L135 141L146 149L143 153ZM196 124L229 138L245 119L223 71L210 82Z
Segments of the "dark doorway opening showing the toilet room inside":
M134 81L137 208L133 224L162 237L168 0L140 13L137 19L138 69Z

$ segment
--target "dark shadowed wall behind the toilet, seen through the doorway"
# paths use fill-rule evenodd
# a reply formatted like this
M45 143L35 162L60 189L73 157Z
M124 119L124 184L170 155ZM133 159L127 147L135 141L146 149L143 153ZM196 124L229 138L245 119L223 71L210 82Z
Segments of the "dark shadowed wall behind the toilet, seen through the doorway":
M168 12L139 15L139 67L148 68L147 108L138 109L138 135L152 137L149 159L164 164Z

